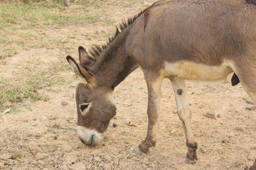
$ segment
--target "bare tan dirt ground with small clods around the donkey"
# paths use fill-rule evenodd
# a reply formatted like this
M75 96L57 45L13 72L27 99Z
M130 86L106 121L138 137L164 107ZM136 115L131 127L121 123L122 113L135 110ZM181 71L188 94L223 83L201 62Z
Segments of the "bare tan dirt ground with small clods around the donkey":
M117 23L134 15L153 1L114 8L110 17ZM73 5L70 12L81 6ZM96 9L95 9L96 10ZM91 13L93 11L90 11ZM72 30L72 31L70 31ZM88 49L93 43L102 44L107 38L80 40L81 33L114 33L113 26L67 26L43 30L46 35L59 35L73 41L73 54L78 59L78 46ZM30 30L38 33L38 30ZM101 32L102 31L102 32ZM75 40L74 40L75 39ZM26 55L26 57L24 57ZM65 62L65 55L54 49L20 51L0 65L3 77L15 77L26 66L35 64L47 68L52 62ZM60 72L60 77L73 79L73 72ZM49 86L39 92L46 101L20 107L18 113L0 116L0 169L245 169L256 157L256 111L242 86L228 81L188 81L192 125L198 142L198 161L186 164L185 135L176 114L176 102L168 79L162 84L161 115L156 147L148 154L137 156L133 149L146 137L147 90L142 72L137 69L114 91L117 115L111 120L103 141L88 147L76 134L77 113L75 86ZM215 118L206 117L208 111ZM113 127L113 123L117 127Z

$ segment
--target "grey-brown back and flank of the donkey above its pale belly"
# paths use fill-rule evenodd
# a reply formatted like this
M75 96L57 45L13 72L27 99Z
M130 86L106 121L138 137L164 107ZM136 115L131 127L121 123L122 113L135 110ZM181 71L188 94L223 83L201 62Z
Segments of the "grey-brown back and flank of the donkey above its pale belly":
M160 69L166 62L184 61L235 67L255 53L256 5L244 0L158 1L130 32L128 50L142 67Z

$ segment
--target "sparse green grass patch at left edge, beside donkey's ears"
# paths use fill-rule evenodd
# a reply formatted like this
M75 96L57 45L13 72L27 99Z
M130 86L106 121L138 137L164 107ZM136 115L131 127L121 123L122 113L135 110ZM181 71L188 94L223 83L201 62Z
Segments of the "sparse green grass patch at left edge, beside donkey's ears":
M66 80L58 74L65 70L69 70L68 64L56 63L48 72L29 72L20 74L15 79L0 79L0 113L6 108L14 110L22 104L30 106L35 101L47 101L48 97L38 90L53 85L71 84L72 80Z

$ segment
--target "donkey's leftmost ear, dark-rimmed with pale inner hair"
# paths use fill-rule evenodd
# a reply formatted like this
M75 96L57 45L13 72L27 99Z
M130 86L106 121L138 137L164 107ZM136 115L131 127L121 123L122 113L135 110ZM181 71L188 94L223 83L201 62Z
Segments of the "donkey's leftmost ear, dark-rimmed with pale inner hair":
M75 74L78 75L78 77L80 77L80 79L85 83L90 83L90 80L92 81L92 74L90 74L89 72L87 72L84 68L82 68L77 62L75 62L75 60L73 59L73 57L70 57L69 55L66 57L68 60L68 63L70 64L70 67L73 69L73 71L75 72Z

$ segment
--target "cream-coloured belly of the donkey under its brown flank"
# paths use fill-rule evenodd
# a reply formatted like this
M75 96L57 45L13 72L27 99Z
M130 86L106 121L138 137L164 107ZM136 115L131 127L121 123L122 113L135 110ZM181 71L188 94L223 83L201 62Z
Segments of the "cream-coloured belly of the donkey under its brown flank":
M233 72L230 62L223 62L219 66L209 66L195 62L165 62L165 77L180 77L188 80L216 81L226 79Z

